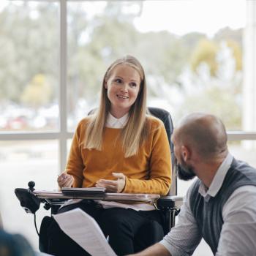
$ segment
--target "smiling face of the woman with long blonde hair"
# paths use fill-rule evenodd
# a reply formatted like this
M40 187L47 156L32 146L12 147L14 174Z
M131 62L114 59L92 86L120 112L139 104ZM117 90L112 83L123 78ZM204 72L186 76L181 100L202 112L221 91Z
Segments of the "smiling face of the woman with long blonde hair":
M138 97L140 91L140 74L127 64L118 64L105 81L108 99L111 102L110 113L121 118Z

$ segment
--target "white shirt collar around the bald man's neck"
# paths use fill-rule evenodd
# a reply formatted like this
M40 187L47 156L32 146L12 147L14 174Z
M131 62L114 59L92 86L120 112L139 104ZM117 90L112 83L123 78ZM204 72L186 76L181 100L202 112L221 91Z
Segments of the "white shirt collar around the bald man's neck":
M203 197L205 197L205 200L208 201L210 197L215 197L215 195L217 195L217 192L219 192L219 189L222 187L222 183L225 179L227 170L229 170L232 161L233 161L233 156L231 154L227 154L227 157L219 166L217 173L214 176L214 179L211 181L211 185L208 188L208 190L206 186L203 184L203 182L200 184L198 192Z

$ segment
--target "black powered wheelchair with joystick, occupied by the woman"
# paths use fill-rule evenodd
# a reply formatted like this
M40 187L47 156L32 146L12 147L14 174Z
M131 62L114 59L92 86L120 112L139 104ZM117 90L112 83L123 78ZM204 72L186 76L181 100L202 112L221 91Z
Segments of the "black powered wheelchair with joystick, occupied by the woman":
M171 143L171 135L173 133L173 121L170 116L170 113L166 110L163 110L161 108L148 108L148 113L152 116L156 116L162 122L165 124L165 130L167 133L167 138L170 145L170 152L171 152L171 159L172 159L172 185L170 187L170 191L168 195L166 196L157 196L154 198L151 198L151 203L154 204L155 208L159 211L161 211L162 215L162 229L163 233L166 235L170 229L175 225L175 218L178 215L181 205L182 205L182 197L177 196L177 177L176 177L176 159L173 153L173 144ZM89 113L90 114L90 113ZM20 206L24 208L26 213L34 214L34 220L35 220L35 214L37 210L39 209L40 204L42 203L44 205L45 210L51 211L51 214L56 214L59 210L59 207L65 203L70 198L79 198L74 196L65 196L62 195L61 192L56 195L39 195L37 193L37 190L35 190L35 184L34 181L29 181L29 188L16 188L15 189L15 195L18 197L18 200L20 200ZM108 193L107 197L108 197ZM122 193L124 194L124 193ZM124 194L125 195L125 194ZM135 194L136 195L136 194ZM108 198L100 198L103 200L108 200ZM86 200L92 200L93 198L90 197L80 197L84 198ZM138 198L138 201L140 201L140 198ZM35 224L37 233L39 235L39 250L41 252L47 252L45 249L45 244L47 244L46 237L45 237L45 230L50 225L51 217L44 217L42 219L40 231L37 230L37 225ZM145 232L154 232L154 223L148 223L145 225L145 227L142 227L142 229L145 229ZM155 241L157 242L157 241Z

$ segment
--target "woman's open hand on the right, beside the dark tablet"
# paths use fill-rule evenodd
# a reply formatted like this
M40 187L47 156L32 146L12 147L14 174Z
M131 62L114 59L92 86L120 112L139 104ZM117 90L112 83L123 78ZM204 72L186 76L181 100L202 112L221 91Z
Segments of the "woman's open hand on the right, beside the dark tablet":
M96 183L96 187L105 187L107 192L120 193L123 191L125 186L125 176L123 173L112 173L117 178L116 181L108 179L99 179Z

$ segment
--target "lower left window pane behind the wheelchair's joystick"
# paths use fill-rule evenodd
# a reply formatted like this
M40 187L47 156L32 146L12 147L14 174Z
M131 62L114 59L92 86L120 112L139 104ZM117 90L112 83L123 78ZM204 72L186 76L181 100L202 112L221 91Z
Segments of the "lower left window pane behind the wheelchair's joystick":
M14 189L27 188L34 181L37 189L56 187L59 145L57 140L10 140L0 142L0 209L4 228L23 233L37 248L38 237L34 216L25 214L15 197ZM38 211L40 223L46 211ZM48 213L50 214L50 212Z

